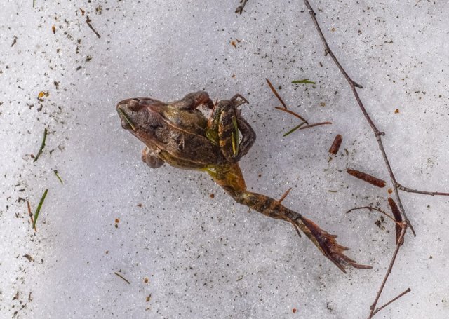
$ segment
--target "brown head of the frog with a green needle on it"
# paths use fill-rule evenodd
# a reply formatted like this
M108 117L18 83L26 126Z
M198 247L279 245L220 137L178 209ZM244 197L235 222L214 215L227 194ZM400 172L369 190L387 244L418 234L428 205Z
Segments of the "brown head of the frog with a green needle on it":
M158 129L164 125L157 111L163 102L147 97L127 99L117 104L121 126L145 144L158 140Z

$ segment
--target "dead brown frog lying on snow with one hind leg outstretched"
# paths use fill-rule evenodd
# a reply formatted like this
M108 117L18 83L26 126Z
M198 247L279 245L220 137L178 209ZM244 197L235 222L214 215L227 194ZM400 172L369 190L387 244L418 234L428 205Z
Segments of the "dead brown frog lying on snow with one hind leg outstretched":
M241 115L243 104L248 100L240 94L213 102L208 93L199 91L173 102L129 98L119 102L116 110L122 128L145 144L142 161L150 168L167 163L206 172L236 203L292 224L299 236L304 233L344 273L348 267L370 269L347 257L348 248L337 243L337 236L311 219L286 208L281 200L248 191L239 161L253 147L256 134ZM205 111L210 111L208 118Z

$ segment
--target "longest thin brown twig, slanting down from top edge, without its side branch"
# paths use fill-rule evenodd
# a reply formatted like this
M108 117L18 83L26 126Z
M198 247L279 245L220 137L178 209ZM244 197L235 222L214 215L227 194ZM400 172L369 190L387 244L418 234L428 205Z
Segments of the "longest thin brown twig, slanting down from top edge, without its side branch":
M321 30L321 27L318 23L318 20L316 20L316 13L313 8L311 8L309 1L304 0L304 4L307 6L307 9L309 11L309 14L311 16L311 19L314 22L314 25L316 27L316 31L319 33L319 36L321 38L321 41L323 42L325 53L326 55L330 55L335 65L337 65L338 69L340 69L340 72L343 74L344 79L346 79L349 83L349 86L351 87L352 93L354 94L354 97L356 98L358 107L360 107L363 116L365 116L366 121L368 121L368 124L370 125L371 129L373 130L373 133L376 137L377 144L379 145L379 149L382 153L382 157L384 158L385 165L387 166L387 170L390 175L391 182L393 184L394 194L396 196L396 199L398 201L399 209L401 210L401 214L403 215L404 221L407 223L407 225L410 227L410 230L412 231L413 235L416 236L415 230L413 229L412 224L410 224L410 220L408 219L406 215L406 211L403 208L401 197L399 197L398 188L396 186L396 177L394 177L393 170L391 169L391 165L389 163L389 159L387 158L387 154L385 153L384 145L382 144L382 136L385 135L384 132L381 132L377 129L376 125L374 124L373 120L370 118L368 111L366 111L365 106L363 105L363 102L361 101L360 97L358 96L356 88L363 88L360 84L356 83L351 77L347 74L347 72L344 70L342 65L340 65L340 62L338 62L337 57L335 57L332 50L330 50L330 47L328 45L328 41L326 41L326 38L324 37L323 31Z

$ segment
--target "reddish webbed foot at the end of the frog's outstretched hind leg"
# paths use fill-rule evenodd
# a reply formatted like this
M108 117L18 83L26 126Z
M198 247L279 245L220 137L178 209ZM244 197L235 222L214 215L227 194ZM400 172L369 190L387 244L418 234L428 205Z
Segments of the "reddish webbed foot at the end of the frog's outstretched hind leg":
M345 266L352 266L358 269L372 268L368 265L357 264L355 260L347 257L344 254L344 251L348 250L348 248L337 243L337 240L335 240L337 236L331 235L327 231L319 228L319 226L310 219L301 216L297 217L296 220L292 219L291 222L295 223L293 224L295 229L301 229L316 247L318 247L319 250L321 250L321 252L344 273L346 273L344 270Z

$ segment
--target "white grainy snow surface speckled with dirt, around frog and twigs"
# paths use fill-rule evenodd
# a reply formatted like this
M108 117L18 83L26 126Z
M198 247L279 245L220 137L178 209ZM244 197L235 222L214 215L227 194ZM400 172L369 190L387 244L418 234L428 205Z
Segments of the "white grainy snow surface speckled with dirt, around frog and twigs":
M368 316L394 225L376 212L345 212L389 211L391 183L377 189L346 173L389 181L302 1L250 0L242 15L238 0L35 2L2 1L0 13L1 318ZM448 191L447 1L311 4L364 87L398 181ZM298 122L274 109L265 78L311 123L333 124L283 137ZM316 85L290 83L300 79ZM196 90L250 101L243 116L257 141L241 161L248 189L279 198L292 187L283 203L372 270L345 275L289 224L248 213L204 173L140 161L142 143L121 128L116 103ZM48 96L38 100L41 91ZM328 162L338 133L342 147ZM26 201L34 212L45 189L34 233ZM448 198L401 196L417 237L408 232L380 305L412 292L376 318L449 318Z

